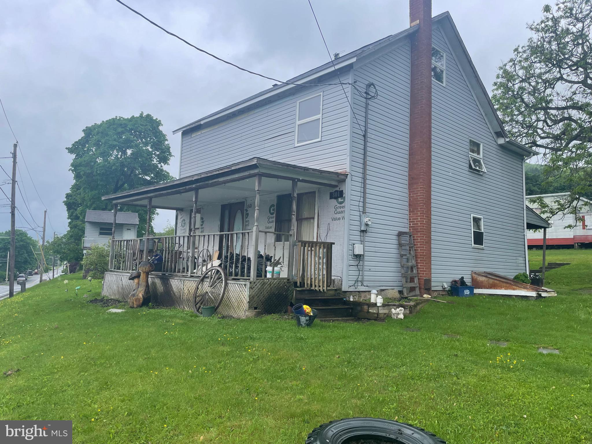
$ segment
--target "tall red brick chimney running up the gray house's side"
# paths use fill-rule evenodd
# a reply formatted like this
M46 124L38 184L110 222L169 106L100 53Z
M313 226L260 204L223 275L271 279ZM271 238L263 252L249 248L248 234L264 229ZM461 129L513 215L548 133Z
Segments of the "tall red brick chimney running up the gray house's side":
M416 250L419 287L432 287L432 0L409 0L411 94L409 109L409 230ZM429 279L429 287L424 286Z

